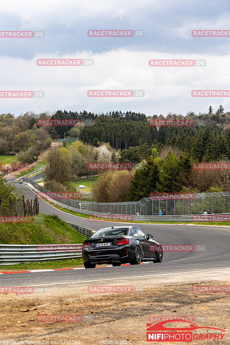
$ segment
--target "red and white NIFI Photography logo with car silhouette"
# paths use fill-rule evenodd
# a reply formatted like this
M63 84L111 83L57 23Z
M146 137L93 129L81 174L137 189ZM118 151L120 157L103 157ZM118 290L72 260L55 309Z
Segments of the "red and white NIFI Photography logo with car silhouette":
M180 323L178 326L177 323ZM181 326L182 325L182 326ZM157 324L148 323L146 328L147 342L192 342L193 340L222 340L223 329L215 327L200 327L191 321L166 320Z

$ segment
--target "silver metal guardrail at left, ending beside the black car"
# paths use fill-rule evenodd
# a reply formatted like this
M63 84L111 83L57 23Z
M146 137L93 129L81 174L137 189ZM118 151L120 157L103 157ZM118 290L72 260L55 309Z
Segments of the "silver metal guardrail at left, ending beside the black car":
M77 225L69 224L80 234L90 237L93 231ZM77 246L77 250L68 250L68 246ZM13 265L25 262L39 262L57 259L81 257L82 244L42 244L46 246L64 246L63 250L38 250L38 245L0 244L0 265Z

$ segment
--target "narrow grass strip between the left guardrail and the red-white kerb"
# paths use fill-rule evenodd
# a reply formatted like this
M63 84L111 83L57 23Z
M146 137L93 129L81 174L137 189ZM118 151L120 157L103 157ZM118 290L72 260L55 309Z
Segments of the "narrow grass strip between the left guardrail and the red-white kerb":
M23 263L16 265L0 265L1 271L27 271L33 269L55 269L55 268L74 268L83 267L83 260L81 257L68 260L50 260L35 263Z

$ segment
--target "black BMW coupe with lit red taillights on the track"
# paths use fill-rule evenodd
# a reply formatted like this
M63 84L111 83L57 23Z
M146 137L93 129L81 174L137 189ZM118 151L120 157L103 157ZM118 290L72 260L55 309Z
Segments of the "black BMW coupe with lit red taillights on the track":
M139 265L143 261L161 263L162 246L152 238L153 235L146 235L136 226L111 226L97 230L82 244L84 267L120 266L122 263Z

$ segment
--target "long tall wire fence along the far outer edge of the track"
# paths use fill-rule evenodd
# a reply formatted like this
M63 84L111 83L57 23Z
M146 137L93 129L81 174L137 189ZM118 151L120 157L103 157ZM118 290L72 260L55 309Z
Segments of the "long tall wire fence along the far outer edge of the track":
M44 194L49 195L50 191L31 181L31 178L23 178L24 182L30 184ZM32 187L31 187L32 188ZM50 199L55 203L58 201L62 207L70 210L78 210L81 213L91 211L91 214L116 214L116 215L141 215L157 216L160 209L167 211L167 215L196 215L200 210L208 211L211 214L223 214L230 211L230 192L215 193L192 193L186 198L154 197L142 198L139 201L124 201L120 203L98 203L95 201L75 200L75 199ZM84 195L83 195L84 199ZM58 203L57 203L58 205ZM64 205L64 206L63 206Z

